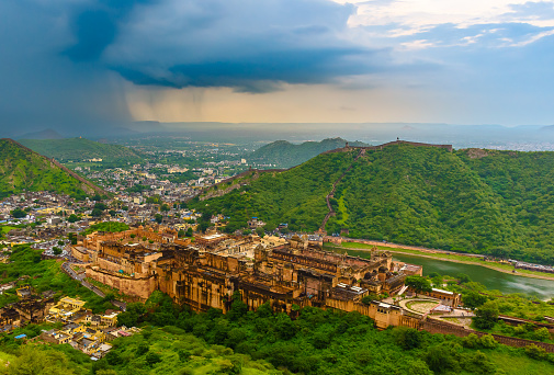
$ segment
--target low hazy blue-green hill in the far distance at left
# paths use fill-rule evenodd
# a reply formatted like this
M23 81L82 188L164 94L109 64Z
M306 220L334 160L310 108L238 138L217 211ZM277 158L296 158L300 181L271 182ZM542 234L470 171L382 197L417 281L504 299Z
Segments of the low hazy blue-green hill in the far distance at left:
M86 138L22 139L20 143L33 151L60 162L102 159L106 163L137 163L143 157L120 145L106 145Z

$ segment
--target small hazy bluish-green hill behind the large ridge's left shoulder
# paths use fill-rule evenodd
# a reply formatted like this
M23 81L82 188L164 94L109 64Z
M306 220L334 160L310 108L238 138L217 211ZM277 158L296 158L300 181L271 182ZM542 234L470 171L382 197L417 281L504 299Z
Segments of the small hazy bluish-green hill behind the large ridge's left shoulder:
M278 168L290 168L316 157L317 155L344 147L348 140L327 138L321 141L305 141L299 145L286 140L276 140L246 156L247 161L258 164L273 164ZM350 146L368 146L361 141L350 143Z

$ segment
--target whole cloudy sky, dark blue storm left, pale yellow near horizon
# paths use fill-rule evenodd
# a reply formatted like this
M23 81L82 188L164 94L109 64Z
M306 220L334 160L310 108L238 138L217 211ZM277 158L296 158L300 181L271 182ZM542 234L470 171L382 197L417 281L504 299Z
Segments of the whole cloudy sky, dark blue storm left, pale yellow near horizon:
M554 0L3 0L0 133L554 124Z

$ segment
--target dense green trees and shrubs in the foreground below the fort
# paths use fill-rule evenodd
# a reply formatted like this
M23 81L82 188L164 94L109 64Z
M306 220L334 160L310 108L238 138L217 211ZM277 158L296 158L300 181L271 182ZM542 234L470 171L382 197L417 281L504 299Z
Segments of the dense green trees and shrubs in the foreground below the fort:
M491 337L461 339L407 328L377 331L371 319L357 312L305 308L293 320L273 314L267 304L248 311L237 298L227 315L215 309L195 314L160 293L144 305L128 307L122 320L140 325L143 332L115 340L114 349L93 364L64 345L16 350L7 339L0 359L11 355L19 365L21 357L34 363L26 351L42 350L45 365L136 375L545 374L554 370L553 355L538 348L513 349ZM58 361L49 359L53 355ZM24 374L16 368L10 367L10 374Z

